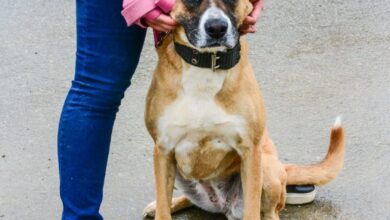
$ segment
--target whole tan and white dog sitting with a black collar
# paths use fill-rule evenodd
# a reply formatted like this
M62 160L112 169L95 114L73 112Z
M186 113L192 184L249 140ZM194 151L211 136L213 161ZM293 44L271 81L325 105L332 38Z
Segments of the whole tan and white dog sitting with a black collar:
M180 26L157 49L146 100L154 147L156 202L145 215L171 219L192 204L230 219L278 219L286 184L324 184L344 157L344 131L332 129L325 160L283 165L268 137L265 107L238 27L249 0L177 0ZM175 178L176 177L176 178ZM172 199L174 183L184 196Z

